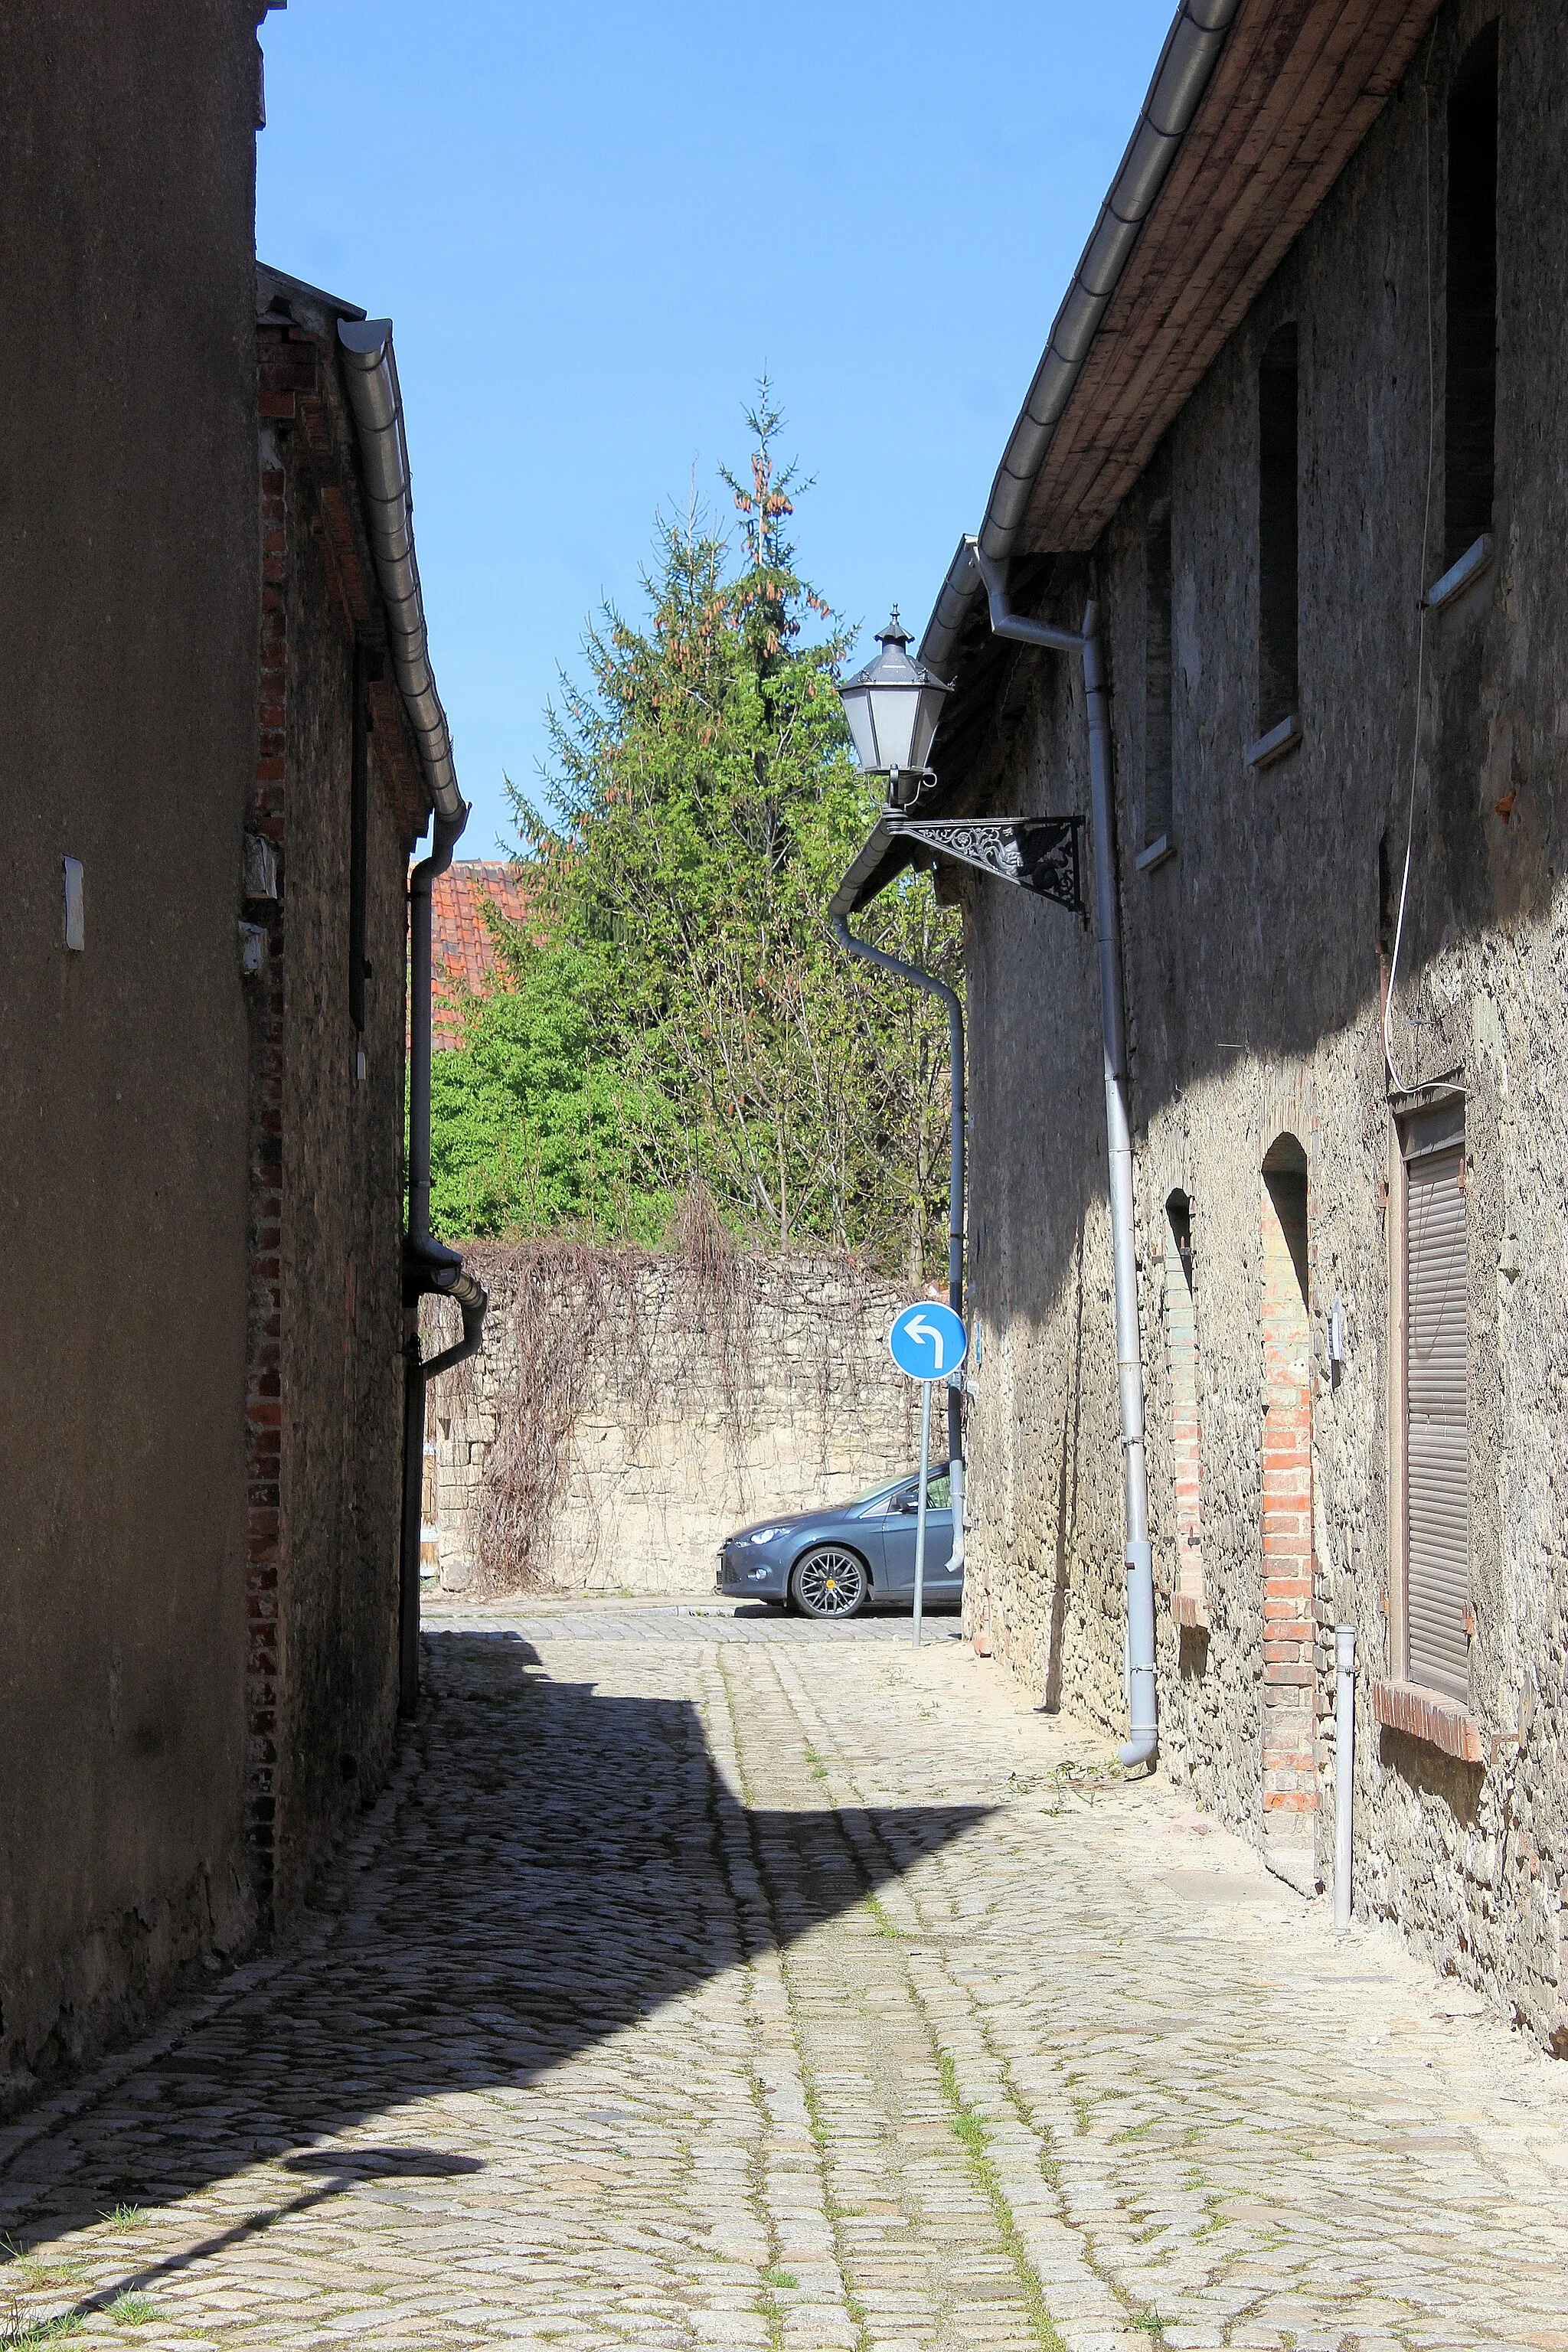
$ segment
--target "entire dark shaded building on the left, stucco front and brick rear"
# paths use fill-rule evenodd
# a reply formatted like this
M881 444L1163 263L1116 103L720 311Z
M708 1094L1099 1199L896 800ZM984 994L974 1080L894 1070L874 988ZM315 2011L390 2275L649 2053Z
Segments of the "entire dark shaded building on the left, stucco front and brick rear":
M371 329L259 318L263 14L0 12L0 2105L287 1915L383 1769L404 1289L461 1284L402 1242L407 851L461 800Z

